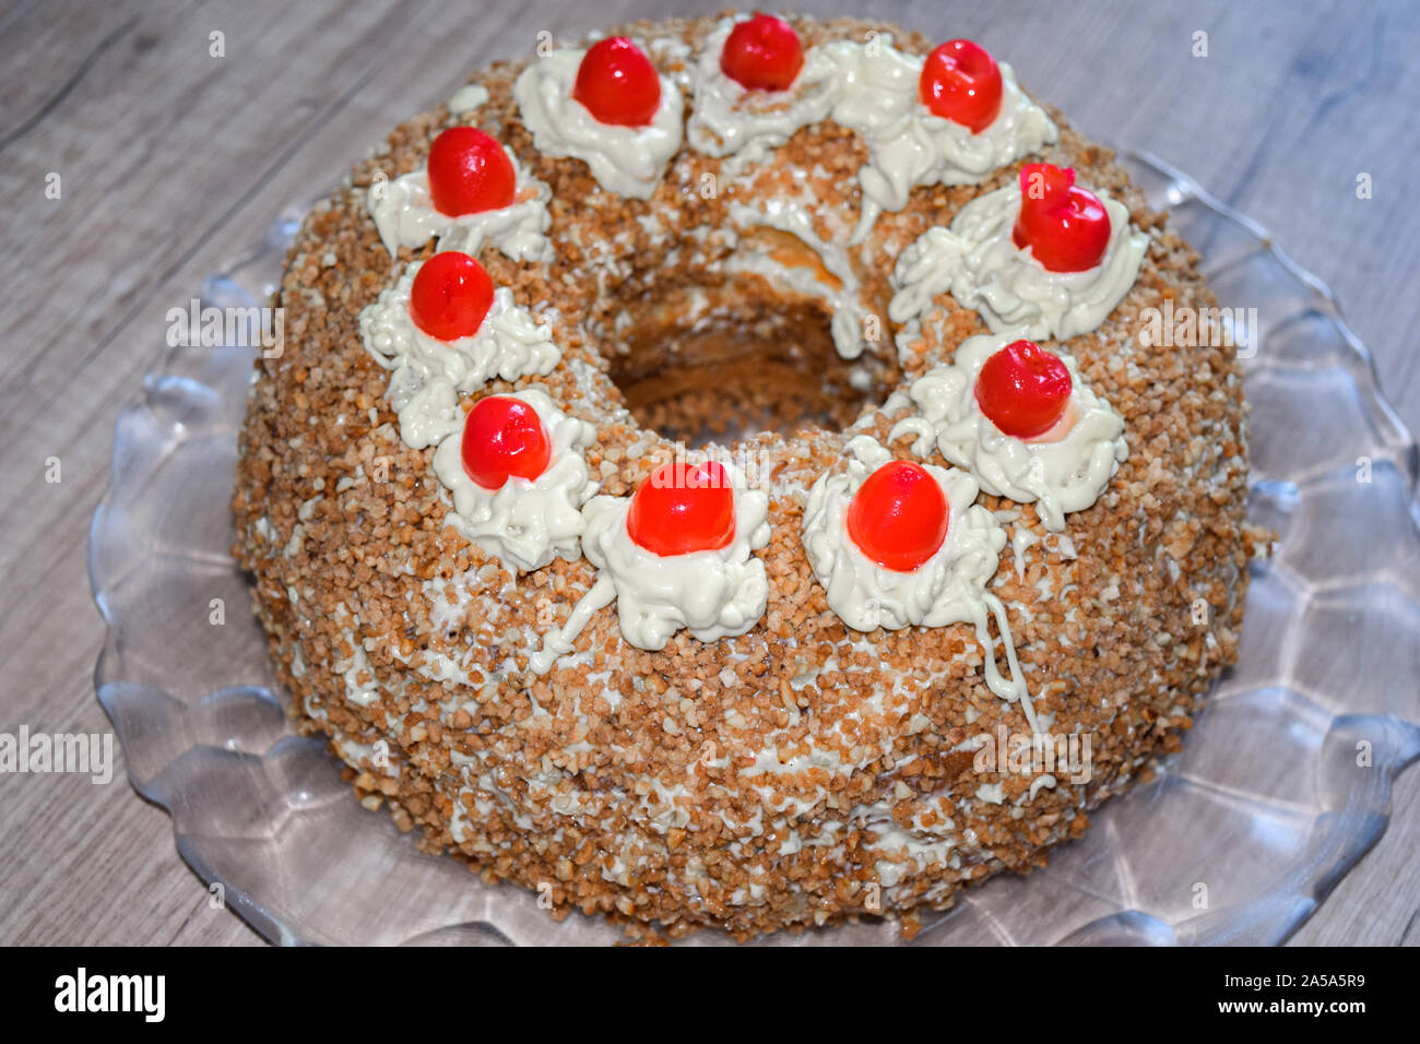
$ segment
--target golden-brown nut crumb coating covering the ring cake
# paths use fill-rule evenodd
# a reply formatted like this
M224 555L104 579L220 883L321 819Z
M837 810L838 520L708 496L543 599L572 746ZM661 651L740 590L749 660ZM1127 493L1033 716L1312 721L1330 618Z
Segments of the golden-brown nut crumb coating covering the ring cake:
M885 24L794 21L805 45L888 30L907 50L930 47ZM713 24L619 31L683 37L697 48ZM673 61L660 64L673 71ZM704 173L720 176L721 165L682 149L650 200L622 199L601 192L584 163L534 151L510 92L521 67L494 64L474 80L490 92L479 109L416 116L358 163L305 220L275 295L285 349L258 362L251 389L234 553L254 575L257 614L300 727L334 737L332 750L358 766L352 776L368 805L388 800L402 827L419 825L427 845L456 852L486 879L550 883L559 912L601 910L669 935L714 925L747 936L940 909L967 882L1044 864L1049 845L1085 830L1088 810L1153 756L1179 749L1197 699L1237 652L1254 541L1244 523L1240 371L1224 348L1146 351L1133 339L1140 310L1163 298L1214 304L1196 254L1145 207L1108 151L1051 111L1061 142L1044 158L1123 200L1150 234L1127 298L1099 331L1065 345L1123 415L1130 450L1099 501L1069 518L1075 555L1030 507L983 497L1001 511L1008 535L1035 537L1020 571L1008 545L994 591L1010 607L1037 710L1052 716L1056 734L1092 736L1088 784L1059 781L1032 794L1030 774L980 773L970 751L957 749L998 723L1027 732L1020 709L984 685L983 649L968 626L858 635L829 609L799 523L804 490L841 457L836 432L755 443L777 463L774 535L760 553L770 604L753 631L710 645L680 632L665 651L645 652L621 641L613 609L604 609L577 642L584 655L537 678L525 672L527 642L567 618L594 570L558 560L514 585L442 527L447 501L430 467L433 450L400 442L386 372L358 330L359 311L398 264L429 249L403 250L392 263L365 209L371 179L416 169L435 134L470 122L552 187L552 263L515 264L493 249L480 259L496 284L511 286L520 304L552 324L564 361L535 382L598 425L592 476L604 493L625 494L667 449L621 409L606 376L601 352L618 312L682 283L723 280L711 274L717 247L692 249L682 234L726 224L728 202L780 190L794 170L812 172L821 232L851 227L865 153L834 124L809 126L761 169L721 176L707 199L694 186ZM897 251L1015 170L981 186L919 187L905 210L880 219L861 277L883 330L893 332L882 305ZM652 213L665 234L638 220ZM601 273L601 290L589 273ZM929 332L906 376L985 330L946 297L923 325ZM892 420L869 423L886 439ZM906 456L906 440L893 449ZM462 605L457 619L430 621L432 589ZM436 656L462 663L473 685L417 672ZM366 706L349 699L348 682L375 697ZM373 757L379 740L388 767ZM757 771L770 749L781 763L835 751L853 768ZM980 797L995 785L998 800ZM907 862L902 838L943 831L947 818L956 838L947 854L917 849ZM885 878L888 865L895 872ZM900 882L883 888L892 878Z

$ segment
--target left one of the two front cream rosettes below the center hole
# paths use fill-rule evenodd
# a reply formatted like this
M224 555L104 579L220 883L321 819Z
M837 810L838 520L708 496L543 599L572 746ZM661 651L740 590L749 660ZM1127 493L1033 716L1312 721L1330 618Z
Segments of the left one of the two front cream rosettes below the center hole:
M582 553L615 587L622 638L640 649L665 648L682 628L701 642L743 635L764 615L770 584L751 553L770 543L770 499L723 467L734 487L734 538L714 551L657 555L640 547L626 531L630 497L595 497L582 511Z

